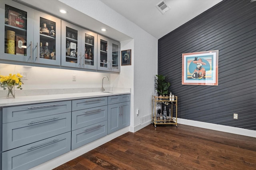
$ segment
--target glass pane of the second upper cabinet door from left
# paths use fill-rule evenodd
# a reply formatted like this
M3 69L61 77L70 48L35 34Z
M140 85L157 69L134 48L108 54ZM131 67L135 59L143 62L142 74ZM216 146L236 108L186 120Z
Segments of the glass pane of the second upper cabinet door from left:
M40 17L40 58L56 60L56 23Z

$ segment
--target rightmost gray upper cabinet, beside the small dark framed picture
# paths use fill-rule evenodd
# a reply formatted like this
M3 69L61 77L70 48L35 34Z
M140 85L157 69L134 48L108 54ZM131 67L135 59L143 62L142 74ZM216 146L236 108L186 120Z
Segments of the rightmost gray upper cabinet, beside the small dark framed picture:
M98 35L98 70L120 72L120 43Z

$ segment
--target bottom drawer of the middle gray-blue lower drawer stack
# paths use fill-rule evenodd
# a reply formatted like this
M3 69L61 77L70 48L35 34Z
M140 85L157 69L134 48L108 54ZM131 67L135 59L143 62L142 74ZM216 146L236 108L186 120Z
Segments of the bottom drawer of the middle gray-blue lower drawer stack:
M108 134L108 121L102 121L81 129L72 131L71 149L76 149L87 143L95 141Z

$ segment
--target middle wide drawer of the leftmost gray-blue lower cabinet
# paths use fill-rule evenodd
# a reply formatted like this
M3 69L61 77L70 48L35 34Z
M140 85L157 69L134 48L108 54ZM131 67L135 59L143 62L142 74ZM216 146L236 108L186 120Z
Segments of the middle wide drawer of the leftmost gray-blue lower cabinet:
M6 151L71 130L71 113L38 117L2 125L2 150Z

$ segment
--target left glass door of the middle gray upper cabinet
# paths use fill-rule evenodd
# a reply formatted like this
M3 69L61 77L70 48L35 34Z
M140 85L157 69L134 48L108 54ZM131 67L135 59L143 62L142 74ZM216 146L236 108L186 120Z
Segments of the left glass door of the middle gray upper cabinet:
M62 21L62 66L81 67L80 28Z

